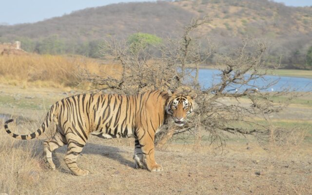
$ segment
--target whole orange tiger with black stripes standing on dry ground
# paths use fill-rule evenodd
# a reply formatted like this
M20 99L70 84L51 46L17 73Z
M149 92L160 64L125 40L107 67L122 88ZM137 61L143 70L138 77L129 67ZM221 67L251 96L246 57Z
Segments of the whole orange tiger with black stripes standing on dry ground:
M8 124L13 119L7 120L4 128L11 137L28 140L42 135L53 120L55 134L43 141L44 161L52 170L56 169L52 152L67 145L64 156L67 167L76 176L88 175L88 170L78 167L77 158L91 134L102 138L134 137L135 167L158 172L163 168L155 161L155 134L167 117L183 126L194 110L196 96L195 92L170 90L137 95L79 94L54 103L39 129L31 134L12 133Z

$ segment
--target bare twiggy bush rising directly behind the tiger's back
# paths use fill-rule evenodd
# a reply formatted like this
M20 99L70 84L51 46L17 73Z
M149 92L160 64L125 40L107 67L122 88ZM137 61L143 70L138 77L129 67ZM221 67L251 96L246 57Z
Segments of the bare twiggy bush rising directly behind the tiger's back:
M105 40L101 47L106 60L120 64L120 77L106 75L103 78L83 70L79 76L82 82L95 83L100 86L99 90L125 94L177 85L178 66L171 60L165 61L165 57L156 57L154 52L159 47L146 45L144 40L138 40L134 45L127 40L117 42L116 39Z

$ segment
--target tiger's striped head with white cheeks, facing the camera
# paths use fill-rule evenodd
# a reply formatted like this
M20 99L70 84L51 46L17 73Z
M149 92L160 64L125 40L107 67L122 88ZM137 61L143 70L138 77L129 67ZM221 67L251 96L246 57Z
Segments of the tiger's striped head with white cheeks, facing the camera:
M168 91L169 99L167 103L167 113L172 115L177 126L183 126L186 123L186 117L189 116L197 106L194 99L197 97L195 92L184 93L181 91Z

